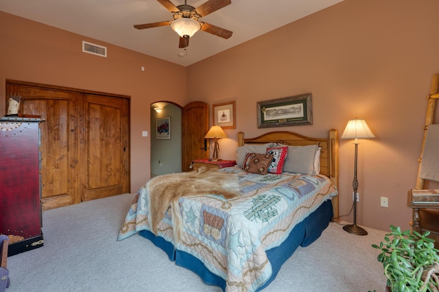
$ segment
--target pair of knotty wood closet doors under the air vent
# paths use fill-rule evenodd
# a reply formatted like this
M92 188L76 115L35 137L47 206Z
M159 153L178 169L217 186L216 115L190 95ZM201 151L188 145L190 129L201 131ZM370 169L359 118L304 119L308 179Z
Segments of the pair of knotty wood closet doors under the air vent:
M40 116L43 209L130 192L130 99L6 81L20 115ZM8 98L6 98L8 108Z

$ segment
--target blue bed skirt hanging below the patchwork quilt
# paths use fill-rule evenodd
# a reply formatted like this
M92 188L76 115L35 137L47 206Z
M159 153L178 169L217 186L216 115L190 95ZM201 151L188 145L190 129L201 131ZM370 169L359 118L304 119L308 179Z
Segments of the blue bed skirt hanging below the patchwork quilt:
M328 227L331 218L333 217L333 209L331 200L324 202L316 211L311 213L305 220L297 224L289 236L281 245L277 248L272 248L267 251L268 260L272 265L272 276L268 279L263 286L259 287L257 291L264 289L265 287L276 278L276 275L281 269L283 263L292 256L294 251L299 247L305 247L316 241L325 228ZM211 273L204 264L187 252L181 250L175 250L174 245L169 241L165 241L162 237L156 237L154 233L148 230L140 232L142 237L150 239L154 245L161 248L169 257L171 261L175 261L176 265L185 267L193 271L195 274L202 278L206 284L215 285L221 287L223 291L226 291L226 280Z

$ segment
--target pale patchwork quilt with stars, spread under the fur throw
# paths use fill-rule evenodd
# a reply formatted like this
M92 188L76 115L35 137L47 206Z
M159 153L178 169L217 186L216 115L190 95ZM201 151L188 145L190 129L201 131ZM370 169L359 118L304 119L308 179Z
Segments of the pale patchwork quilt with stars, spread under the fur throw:
M158 235L224 278L226 291L255 291L272 275L265 251L285 241L294 226L336 196L337 189L322 175L249 174L237 167L219 172L239 176L241 196L180 198L180 239L174 240L169 210L158 224ZM139 189L118 240L151 231L149 193L148 183Z

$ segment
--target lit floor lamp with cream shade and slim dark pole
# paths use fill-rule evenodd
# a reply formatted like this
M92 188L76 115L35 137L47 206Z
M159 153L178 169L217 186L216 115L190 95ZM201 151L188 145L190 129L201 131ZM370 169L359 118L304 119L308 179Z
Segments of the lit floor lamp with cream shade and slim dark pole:
M354 180L352 186L354 189L354 223L351 225L343 226L343 229L348 233L353 233L355 235L367 235L368 232L363 228L357 226L357 148L359 139L372 139L375 138L372 131L370 131L368 124L365 120L350 120L344 129L342 139L355 139L355 166L354 166Z

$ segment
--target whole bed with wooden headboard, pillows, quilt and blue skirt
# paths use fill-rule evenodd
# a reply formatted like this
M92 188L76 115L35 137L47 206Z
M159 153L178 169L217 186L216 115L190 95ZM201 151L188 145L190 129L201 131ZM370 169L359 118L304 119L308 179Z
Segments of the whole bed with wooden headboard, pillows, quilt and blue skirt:
M267 287L299 246L316 241L338 217L337 131L324 138L275 131L252 139L240 132L238 144L233 167L158 176L143 185L118 240L139 233L223 291ZM268 170L258 164L264 159L272 161L264 164ZM209 179L224 196L209 189ZM181 181L190 183L188 194L154 199L184 193ZM163 211L156 201L165 202Z

